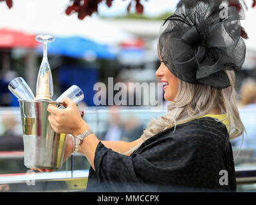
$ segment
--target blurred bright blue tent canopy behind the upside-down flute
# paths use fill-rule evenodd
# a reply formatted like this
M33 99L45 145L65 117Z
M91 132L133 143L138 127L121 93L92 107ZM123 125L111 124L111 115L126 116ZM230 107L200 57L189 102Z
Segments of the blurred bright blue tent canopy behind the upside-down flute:
M69 56L73 58L116 58L114 48L110 45L101 45L82 37L56 37L54 42L48 44L48 53Z

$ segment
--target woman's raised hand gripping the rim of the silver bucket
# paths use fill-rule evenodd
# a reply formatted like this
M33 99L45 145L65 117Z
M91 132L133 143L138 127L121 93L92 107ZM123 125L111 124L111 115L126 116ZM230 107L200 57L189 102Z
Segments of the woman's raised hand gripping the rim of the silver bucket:
M82 120L75 102L69 97L64 98L63 102L67 105L63 110L53 105L48 106L47 110L50 112L48 120L51 128L56 133L66 133L73 136L80 135L88 127L86 122Z

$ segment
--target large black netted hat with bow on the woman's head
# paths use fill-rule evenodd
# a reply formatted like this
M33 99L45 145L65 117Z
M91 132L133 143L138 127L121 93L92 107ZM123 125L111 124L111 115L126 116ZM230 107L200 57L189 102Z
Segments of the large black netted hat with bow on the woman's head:
M158 40L161 61L179 79L223 89L224 70L241 69L244 10L238 0L181 0L165 20Z

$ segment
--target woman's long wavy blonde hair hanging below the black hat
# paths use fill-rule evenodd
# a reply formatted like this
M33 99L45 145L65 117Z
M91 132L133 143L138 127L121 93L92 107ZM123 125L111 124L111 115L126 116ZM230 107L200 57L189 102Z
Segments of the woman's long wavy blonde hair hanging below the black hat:
M151 136L169 127L174 127L175 131L177 124L202 117L215 108L219 109L221 113L226 113L226 118L223 120L228 119L230 121L228 127L230 140L239 136L242 136L243 140L245 129L236 104L235 72L233 70L225 70L225 72L231 86L222 90L217 90L209 85L187 83L178 79L178 92L174 101L169 103L167 114L158 119L152 119L147 129L143 131L142 141L145 142ZM142 143L126 153L136 150Z

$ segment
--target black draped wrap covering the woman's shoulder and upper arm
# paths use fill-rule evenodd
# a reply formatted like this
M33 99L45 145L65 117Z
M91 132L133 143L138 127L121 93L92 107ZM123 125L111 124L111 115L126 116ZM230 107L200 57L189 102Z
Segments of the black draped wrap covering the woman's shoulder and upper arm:
M179 124L175 132L170 127L143 142L131 156L100 142L94 163L87 192L236 191L228 131L212 117ZM223 177L228 178L224 184Z

